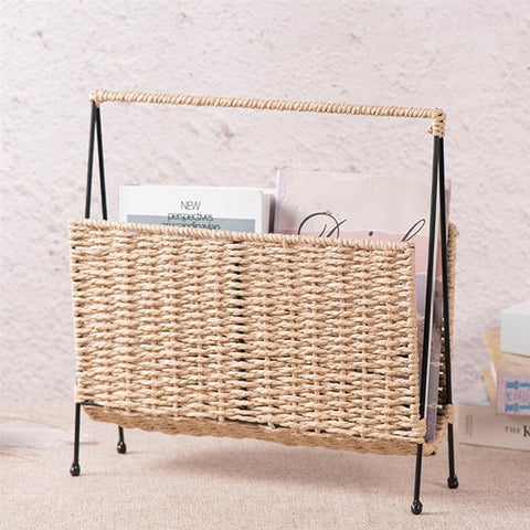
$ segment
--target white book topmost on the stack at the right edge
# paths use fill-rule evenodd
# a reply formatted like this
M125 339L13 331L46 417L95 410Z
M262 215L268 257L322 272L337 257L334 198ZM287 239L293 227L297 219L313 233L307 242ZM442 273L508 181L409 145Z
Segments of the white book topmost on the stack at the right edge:
M530 300L500 311L500 349L530 357Z

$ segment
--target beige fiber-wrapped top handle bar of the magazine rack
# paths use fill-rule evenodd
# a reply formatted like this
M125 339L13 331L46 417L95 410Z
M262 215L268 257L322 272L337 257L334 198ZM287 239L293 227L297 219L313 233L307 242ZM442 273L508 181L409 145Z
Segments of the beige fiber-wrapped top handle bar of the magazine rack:
M289 110L298 113L350 114L357 116L393 116L431 119L428 132L443 138L445 113L441 108L394 107L382 105L351 105L347 103L289 102L285 99L255 99L251 97L184 96L176 94L146 94L141 92L94 91L91 99L99 106L105 102L151 103L159 105L193 105L195 107L239 107L256 110Z

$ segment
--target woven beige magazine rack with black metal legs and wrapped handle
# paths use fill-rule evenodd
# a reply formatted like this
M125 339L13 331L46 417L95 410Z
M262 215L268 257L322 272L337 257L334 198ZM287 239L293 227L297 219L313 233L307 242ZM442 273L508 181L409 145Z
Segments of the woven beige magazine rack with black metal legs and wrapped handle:
M71 221L76 336L74 462L81 406L93 418L163 433L422 456L445 431L454 470L451 330L456 229L445 219L437 108L358 106L96 91L85 219ZM151 103L431 119L434 136L427 293L435 225L444 337L436 436L426 442L428 362L417 348L412 243L254 234L107 221L100 105ZM97 144L103 221L91 220ZM437 208L438 204L438 208ZM439 216L439 221L437 220ZM433 314L427 296L425 321ZM425 326L423 351L428 351Z

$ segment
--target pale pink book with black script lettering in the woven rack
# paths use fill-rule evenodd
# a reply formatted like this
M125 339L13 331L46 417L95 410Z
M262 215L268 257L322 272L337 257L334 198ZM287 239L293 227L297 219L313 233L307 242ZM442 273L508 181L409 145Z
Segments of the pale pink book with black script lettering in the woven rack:
M438 245L435 282L433 292L428 294L433 311L431 321L424 321L431 182L428 179L282 169L277 174L277 190L274 223L276 233L414 243L417 346L422 362L424 359L430 362L424 411L427 423L425 439L434 438L438 410L443 305L439 226L436 226L435 239ZM448 204L448 189L446 194ZM431 328L431 344L430 351L423 352L425 326Z

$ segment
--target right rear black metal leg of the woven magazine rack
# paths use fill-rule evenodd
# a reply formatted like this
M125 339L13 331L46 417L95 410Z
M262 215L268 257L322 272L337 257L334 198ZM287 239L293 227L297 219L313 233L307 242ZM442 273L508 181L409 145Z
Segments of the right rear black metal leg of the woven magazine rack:
M449 271L447 256L447 220L445 210L445 163L444 163L444 139L439 140L439 225L442 240L442 280L444 297L444 348L445 348L445 379L447 404L453 403L453 386L451 374L451 320L449 320ZM447 445L449 453L449 477L447 486L451 489L458 487L458 478L455 474L455 444L453 438L453 424L447 425Z

